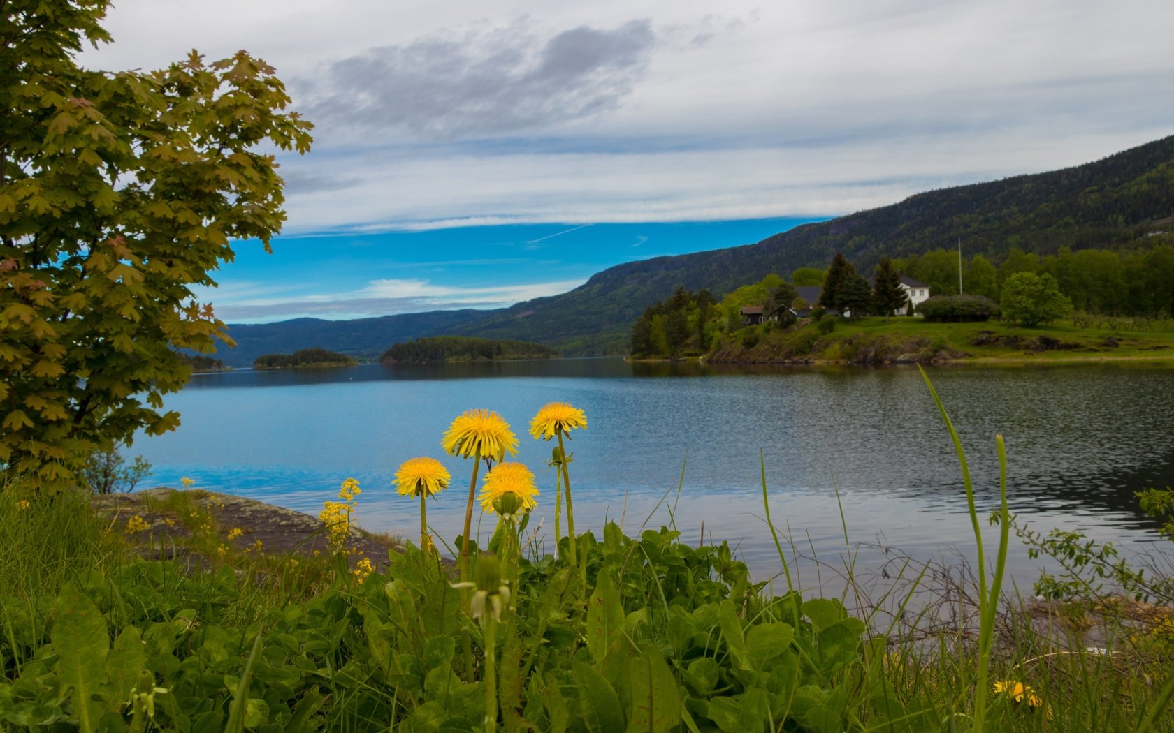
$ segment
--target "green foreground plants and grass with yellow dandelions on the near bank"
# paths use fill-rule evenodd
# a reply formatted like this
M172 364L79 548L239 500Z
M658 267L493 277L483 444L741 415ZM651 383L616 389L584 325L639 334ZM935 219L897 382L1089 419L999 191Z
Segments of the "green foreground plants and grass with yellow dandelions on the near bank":
M539 412L531 433L561 441L576 427L586 427L581 410L554 403ZM504 457L515 439L494 413L472 410L453 422L444 443L477 466L485 456ZM1001 441L998 447L1001 460ZM321 556L242 549L234 544L238 528L216 525L201 510L203 493L169 495L154 510L183 524L197 562L133 555L134 547L174 550L175 542L154 535L137 515L106 521L81 494L5 486L0 726L915 732L1174 725L1174 616L1155 606L1148 617L1118 612L1127 604L1100 591L1100 605L1075 608L1095 612L1104 646L1085 649L1079 630L1086 624L1071 606L1058 606L1040 629L1000 592L1013 520L1004 500L999 545L984 550L965 462L977 575L946 583L953 576L910 562L879 595L876 588L869 595L849 563L838 597L792 585L795 555L777 534L782 572L765 579L751 578L729 544L689 547L673 527L628 536L608 523L599 537L573 530L551 537L528 527L533 476L500 470L515 463L490 463L481 502L498 516L498 529L486 548L467 544L467 561L464 552L458 559L463 583L432 549L426 524L423 549L406 543L382 571L359 556L349 531L360 495L353 480L323 511L332 551ZM559 463L555 495L566 490L573 527L568 463ZM423 516L448 474L413 459L397 483L420 501ZM471 496L475 487L474 477ZM1148 501L1162 509L1169 491L1155 496ZM774 534L769 503L764 510ZM1047 542L1071 549L1055 537L1037 537L1035 547ZM987 556L992 568L983 563ZM1080 556L1085 568L1095 556L1095 549ZM1064 578L1070 591L1098 591L1074 577L1079 572ZM937 600L920 602L925 592Z

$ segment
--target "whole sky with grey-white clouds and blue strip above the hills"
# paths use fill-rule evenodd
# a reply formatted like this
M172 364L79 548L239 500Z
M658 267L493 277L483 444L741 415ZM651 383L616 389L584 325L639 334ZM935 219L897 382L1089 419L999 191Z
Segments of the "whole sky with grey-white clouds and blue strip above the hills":
M245 48L315 122L230 321L494 307L1174 133L1169 0L115 0L82 61Z

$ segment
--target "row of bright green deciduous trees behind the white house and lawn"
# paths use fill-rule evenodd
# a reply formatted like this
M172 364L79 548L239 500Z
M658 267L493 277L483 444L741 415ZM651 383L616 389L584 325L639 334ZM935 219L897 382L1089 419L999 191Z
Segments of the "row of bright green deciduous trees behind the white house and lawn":
M1159 239L1159 237L1154 237ZM935 296L958 293L958 252L932 250L893 259L905 274L930 286ZM981 254L963 262L963 292L999 301L1003 284L1017 272L1050 274L1077 311L1098 315L1174 315L1174 246L1135 250L1077 250L1055 254L1012 247L996 266Z

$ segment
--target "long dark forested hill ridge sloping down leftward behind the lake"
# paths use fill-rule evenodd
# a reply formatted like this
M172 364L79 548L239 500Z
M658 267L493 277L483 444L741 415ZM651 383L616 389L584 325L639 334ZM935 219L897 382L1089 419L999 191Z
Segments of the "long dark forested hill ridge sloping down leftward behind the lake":
M386 331L405 332L391 339L359 325L385 319L299 319L234 326L231 334L252 355L298 347L275 341L301 338L299 324L313 324L317 332L301 344L356 355L441 334L535 341L567 355L623 353L630 324L681 285L708 287L720 297L771 272L788 276L796 267L825 266L837 251L866 271L882 254L952 247L962 238L969 254L983 253L998 263L1012 246L1039 253L1064 245L1129 246L1156 230L1174 230L1174 136L1074 168L918 194L889 206L804 224L757 244L616 265L575 290L505 310L457 311L451 320L444 312L386 317L394 319L394 327L389 320ZM330 341L328 333L349 334L343 340L357 351ZM254 348L254 338L272 345ZM236 365L251 357L224 359Z

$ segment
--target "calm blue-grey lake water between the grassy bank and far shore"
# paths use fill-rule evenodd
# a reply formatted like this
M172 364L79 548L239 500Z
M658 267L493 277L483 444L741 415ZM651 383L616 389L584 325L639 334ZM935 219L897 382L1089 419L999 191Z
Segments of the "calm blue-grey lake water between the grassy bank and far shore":
M1174 480L1174 369L953 367L930 375L966 447L989 547L997 543L985 522L998 503L997 433L1021 520L1152 547L1153 523L1133 493ZM809 586L843 566L841 503L858 566L879 568L889 548L922 559L973 556L958 462L916 368L576 359L203 374L167 400L182 415L178 430L140 437L129 453L155 467L142 486L178 487L188 476L200 488L311 514L353 476L363 486L358 522L407 537L418 532L418 505L391 480L400 462L431 455L453 475L429 508L439 544L459 534L471 471L443 453L440 437L473 407L512 425L515 460L534 470L547 500L531 525L553 527L552 443L531 439L527 427L556 400L589 421L568 446L580 531L599 536L608 520L629 534L675 521L696 543L703 527L707 539L737 544L765 579L781 563L763 521L764 466L771 516L794 543L788 554L808 558ZM491 530L486 517L480 531ZM1039 566L1021 549L1012 556L1021 586Z

